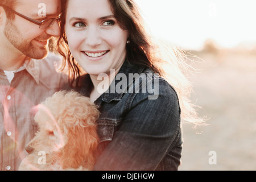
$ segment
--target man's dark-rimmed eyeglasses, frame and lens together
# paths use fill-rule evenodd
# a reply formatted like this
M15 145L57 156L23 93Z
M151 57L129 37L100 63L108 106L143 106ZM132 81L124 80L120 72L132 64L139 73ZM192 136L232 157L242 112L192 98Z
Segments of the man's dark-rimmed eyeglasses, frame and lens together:
M34 19L31 19L31 18L29 18L29 17L27 17L27 16L24 16L24 15L22 15L22 14L16 12L16 11L10 9L10 7L7 7L7 6L5 6L5 5L2 5L1 3L0 3L0 6L3 6L3 7L5 7L5 8L7 8L7 9L10 10L11 12L13 12L14 14L16 14L16 15L18 15L18 16L20 16L20 17L22 17L22 18L24 18L24 19L26 19L26 20L28 20L28 21L30 21L31 23L37 24L37 25L39 26L39 28L42 29L42 30L45 30L45 29L51 27L51 26L53 25L53 23L54 23L56 20L57 20L57 22L60 21L60 16L61 16L61 15L57 16L56 18L44 19L44 20L42 20L42 21L40 22L40 21L38 21L38 20L34 20Z

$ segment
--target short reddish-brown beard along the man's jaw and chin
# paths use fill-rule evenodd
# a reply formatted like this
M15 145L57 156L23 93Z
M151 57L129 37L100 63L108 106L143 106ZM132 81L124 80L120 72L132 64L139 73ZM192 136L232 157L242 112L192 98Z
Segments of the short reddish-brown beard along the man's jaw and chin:
M9 42L27 57L31 57L32 59L43 59L48 55L48 45L46 47L34 46L31 42L28 42L28 40L23 39L22 34L20 34L12 20L7 20L4 34Z

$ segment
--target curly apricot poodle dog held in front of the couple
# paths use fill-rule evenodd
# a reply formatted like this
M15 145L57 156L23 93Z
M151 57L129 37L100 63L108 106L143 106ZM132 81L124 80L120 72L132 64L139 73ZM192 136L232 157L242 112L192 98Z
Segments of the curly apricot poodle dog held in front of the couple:
M97 107L76 92L57 92L37 106L39 131L19 170L90 170L98 144Z

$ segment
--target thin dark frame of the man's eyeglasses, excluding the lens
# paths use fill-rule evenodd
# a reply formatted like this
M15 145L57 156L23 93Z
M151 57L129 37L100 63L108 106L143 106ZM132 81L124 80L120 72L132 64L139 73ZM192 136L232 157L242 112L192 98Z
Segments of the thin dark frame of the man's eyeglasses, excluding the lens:
M40 28L40 29L43 29L43 30L45 30L45 29L51 27L51 26L53 25L53 23L54 23L53 20L57 20L57 22L59 22L59 21L60 21L60 17L61 17L61 14L60 14L60 15L57 16L56 18L44 19L44 20L42 20L42 21L40 22L40 21L38 21L38 20L34 20L34 19L32 19L32 18L29 18L28 16L25 16L25 15L23 15L23 14L20 14L20 13L18 13L17 11L14 11L13 9L11 9L10 7L8 7L8 6L6 6L6 5L2 5L1 3L0 3L0 6L7 8L7 9L10 10L11 12L13 12L14 14L16 14L16 15L18 15L18 16L20 16L20 17L26 19L26 20L28 20L28 21L31 22L31 23L37 24L37 25L39 26L39 28ZM46 21L48 21L48 20L52 20L52 22L48 25L48 27L46 27L46 28L41 28L43 22L46 22Z

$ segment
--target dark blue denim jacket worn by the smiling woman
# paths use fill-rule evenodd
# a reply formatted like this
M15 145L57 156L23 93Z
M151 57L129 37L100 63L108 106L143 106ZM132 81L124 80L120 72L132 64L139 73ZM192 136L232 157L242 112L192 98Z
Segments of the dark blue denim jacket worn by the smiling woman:
M120 75L123 79L117 78ZM129 79L134 75L139 77ZM89 75L81 80L82 87L77 91L89 96ZM155 88L155 96L148 85ZM180 107L175 90L166 80L149 68L125 61L109 90L94 103L101 112L94 170L178 169L182 149Z

